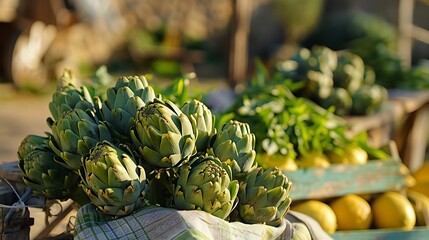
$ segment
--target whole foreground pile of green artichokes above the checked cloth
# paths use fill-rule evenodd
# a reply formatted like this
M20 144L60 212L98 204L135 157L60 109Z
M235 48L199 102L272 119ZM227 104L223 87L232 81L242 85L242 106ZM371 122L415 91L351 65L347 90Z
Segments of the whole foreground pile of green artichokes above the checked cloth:
M157 93L144 76L120 77L99 95L76 85L66 71L49 104L51 131L18 149L34 194L112 217L154 205L278 226L289 210L291 181L257 166L247 123L216 128L203 102L177 105L180 93Z

